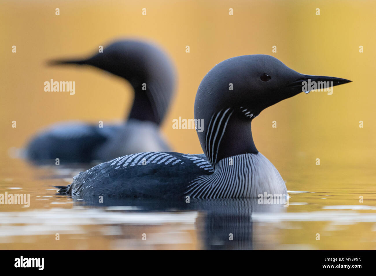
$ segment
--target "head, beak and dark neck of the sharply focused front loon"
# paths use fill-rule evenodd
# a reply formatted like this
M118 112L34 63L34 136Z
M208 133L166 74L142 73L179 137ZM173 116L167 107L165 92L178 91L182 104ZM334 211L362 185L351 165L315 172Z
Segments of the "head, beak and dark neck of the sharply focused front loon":
M212 165L224 157L257 153L250 122L265 108L309 92L304 81L324 81L327 88L350 82L303 75L262 54L233 57L214 66L201 81L195 100L195 119L203 119L206 130L197 133Z

